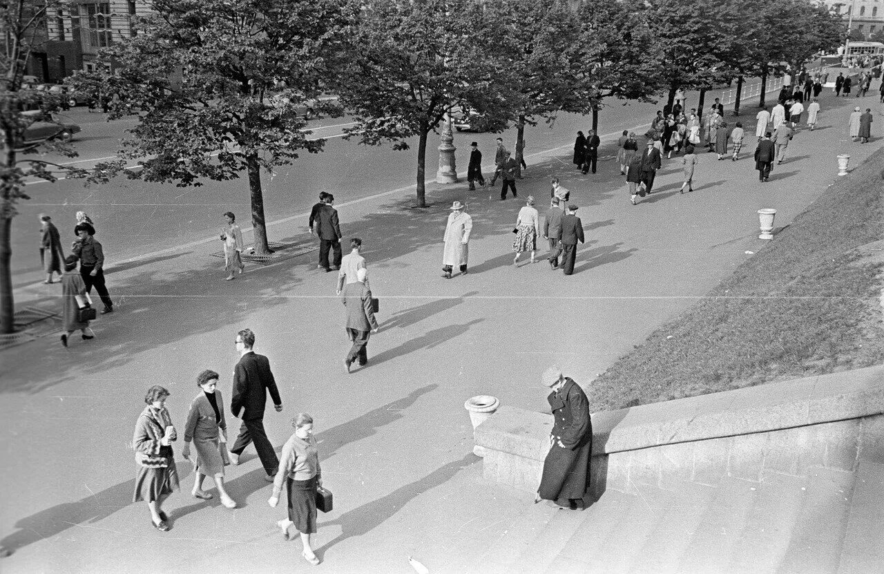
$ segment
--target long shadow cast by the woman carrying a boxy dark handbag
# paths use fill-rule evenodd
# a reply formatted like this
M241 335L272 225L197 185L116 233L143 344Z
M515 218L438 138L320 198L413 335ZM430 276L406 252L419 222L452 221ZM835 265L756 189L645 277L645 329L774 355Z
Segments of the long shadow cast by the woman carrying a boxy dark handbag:
M342 532L339 537L330 540L320 548L316 548L316 554L324 552L347 539L371 532L399 512L409 501L432 488L445 484L458 472L481 460L478 456L469 453L459 460L439 467L420 480L400 486L392 493L378 498L376 501L371 501L356 509L348 510L335 520L317 524L318 528L339 524Z

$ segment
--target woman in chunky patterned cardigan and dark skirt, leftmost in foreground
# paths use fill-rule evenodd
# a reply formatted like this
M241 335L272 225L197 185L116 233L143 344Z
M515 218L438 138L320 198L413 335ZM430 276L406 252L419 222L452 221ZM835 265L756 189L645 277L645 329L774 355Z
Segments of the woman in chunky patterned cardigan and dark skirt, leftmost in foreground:
M138 474L135 477L133 502L147 501L150 523L160 532L171 528L169 517L163 512L163 502L179 489L178 468L171 443L178 440L178 432L171 424L169 409L165 402L169 391L154 385L144 397L147 407L141 411L135 423L132 448Z

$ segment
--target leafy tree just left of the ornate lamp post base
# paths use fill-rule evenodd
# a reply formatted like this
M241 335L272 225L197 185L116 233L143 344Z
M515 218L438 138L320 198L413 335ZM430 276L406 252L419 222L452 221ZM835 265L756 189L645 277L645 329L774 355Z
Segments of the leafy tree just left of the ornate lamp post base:
M347 65L332 80L358 119L348 134L366 145L390 141L393 149L418 138L418 207L426 206L429 134L453 106L500 120L512 105L512 71L500 65L506 28L494 14L492 4L476 0L377 0L354 23Z

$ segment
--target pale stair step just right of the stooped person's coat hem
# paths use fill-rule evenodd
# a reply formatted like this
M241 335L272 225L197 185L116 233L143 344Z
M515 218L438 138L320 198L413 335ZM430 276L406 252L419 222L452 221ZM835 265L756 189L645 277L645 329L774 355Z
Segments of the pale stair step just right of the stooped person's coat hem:
M583 571L628 572L636 558L635 549L643 547L658 527L671 497L671 493L652 486L633 484L632 491L606 501L612 509L584 522L560 556L582 563Z

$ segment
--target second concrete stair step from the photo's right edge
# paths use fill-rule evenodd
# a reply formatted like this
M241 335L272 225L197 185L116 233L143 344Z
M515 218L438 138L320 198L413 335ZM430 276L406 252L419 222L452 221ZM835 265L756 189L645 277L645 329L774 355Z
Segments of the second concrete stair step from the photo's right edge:
M804 504L777 574L838 571L854 479L847 471L819 468L808 472Z

